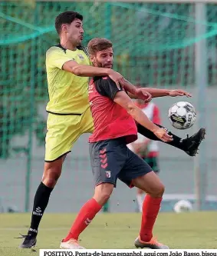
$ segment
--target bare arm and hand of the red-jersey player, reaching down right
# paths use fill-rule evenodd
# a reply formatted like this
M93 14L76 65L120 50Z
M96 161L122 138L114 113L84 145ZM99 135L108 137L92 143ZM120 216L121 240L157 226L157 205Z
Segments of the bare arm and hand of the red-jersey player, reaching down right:
M121 107L125 108L127 112L145 128L153 131L153 133L162 141L173 141L172 136L168 135L166 130L159 128L149 118L143 113L143 111L138 108L131 98L127 95L125 91L118 91L114 96L113 101L116 102Z

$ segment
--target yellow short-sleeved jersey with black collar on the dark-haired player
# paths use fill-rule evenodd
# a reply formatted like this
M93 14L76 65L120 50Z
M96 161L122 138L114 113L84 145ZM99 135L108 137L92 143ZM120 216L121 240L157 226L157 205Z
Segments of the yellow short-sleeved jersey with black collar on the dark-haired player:
M65 62L74 60L78 64L90 65L82 50L67 50L61 45L52 46L46 52L46 71L49 101L46 110L60 115L81 115L89 107L88 81L62 69Z

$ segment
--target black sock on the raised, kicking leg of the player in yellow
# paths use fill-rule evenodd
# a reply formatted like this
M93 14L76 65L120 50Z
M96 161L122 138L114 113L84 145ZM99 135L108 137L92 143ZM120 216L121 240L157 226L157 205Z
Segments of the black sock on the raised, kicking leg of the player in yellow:
M155 124L155 125L157 125L157 124ZM159 126L160 128L164 128L162 125L157 125L157 126ZM138 129L138 132L141 135L145 136L146 138L149 138L150 140L153 140L153 141L161 141L159 138L156 137L155 134L153 134L152 131L144 128L142 125L138 124L137 129ZM184 141L182 141L182 138L179 138L178 136L173 135L173 133L171 131L168 131L168 134L173 136L173 141L170 141L170 142L162 141L163 143L171 145L175 148L179 148L183 151L186 150L186 143L184 143Z

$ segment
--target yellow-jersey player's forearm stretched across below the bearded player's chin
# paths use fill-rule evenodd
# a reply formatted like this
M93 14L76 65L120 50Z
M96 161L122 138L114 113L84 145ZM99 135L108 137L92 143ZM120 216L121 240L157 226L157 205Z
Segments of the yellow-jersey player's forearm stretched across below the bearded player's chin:
M71 68L71 72L77 76L94 77L106 76L110 74L110 68L97 68L88 65L76 65Z

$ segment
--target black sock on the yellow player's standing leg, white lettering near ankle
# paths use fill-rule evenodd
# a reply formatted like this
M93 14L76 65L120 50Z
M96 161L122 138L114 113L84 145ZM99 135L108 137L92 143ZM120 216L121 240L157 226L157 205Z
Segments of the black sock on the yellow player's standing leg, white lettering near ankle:
M31 214L31 225L28 230L28 234L37 235L38 226L40 224L41 218L44 214L44 211L48 205L48 201L51 195L51 191L54 188L48 188L41 182L38 186L38 189L35 193L35 199L33 204L33 210Z

